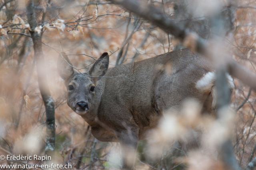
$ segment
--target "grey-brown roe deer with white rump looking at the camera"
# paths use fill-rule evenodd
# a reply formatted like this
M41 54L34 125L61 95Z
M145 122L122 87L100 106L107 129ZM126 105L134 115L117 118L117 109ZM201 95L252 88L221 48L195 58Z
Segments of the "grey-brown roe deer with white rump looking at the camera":
M214 69L197 53L182 49L110 69L108 62L108 53L103 53L82 74L63 53L58 73L68 90L68 106L91 126L94 137L120 143L124 169L133 169L138 141L157 127L164 110L181 109L185 98L200 101L202 112L215 110ZM166 63L170 69L160 69ZM233 79L227 78L229 88L234 88Z

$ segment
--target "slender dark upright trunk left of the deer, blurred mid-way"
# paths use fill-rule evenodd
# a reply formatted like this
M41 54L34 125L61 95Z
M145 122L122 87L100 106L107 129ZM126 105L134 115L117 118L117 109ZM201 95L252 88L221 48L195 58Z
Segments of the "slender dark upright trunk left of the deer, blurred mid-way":
M54 102L50 94L50 90L47 84L47 78L45 74L44 55L42 51L41 35L35 32L37 26L36 15L34 10L34 2L30 0L27 6L27 18L31 27L31 37L34 44L34 57L36 59L36 67L38 73L38 86L44 100L44 106L46 109L46 154L54 154L55 149L55 118L54 118Z

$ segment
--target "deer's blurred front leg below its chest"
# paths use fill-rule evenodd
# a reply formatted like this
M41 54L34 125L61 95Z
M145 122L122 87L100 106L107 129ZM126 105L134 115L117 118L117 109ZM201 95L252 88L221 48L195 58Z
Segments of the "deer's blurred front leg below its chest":
M133 170L138 146L137 133L121 133L118 137L122 152L122 169Z

